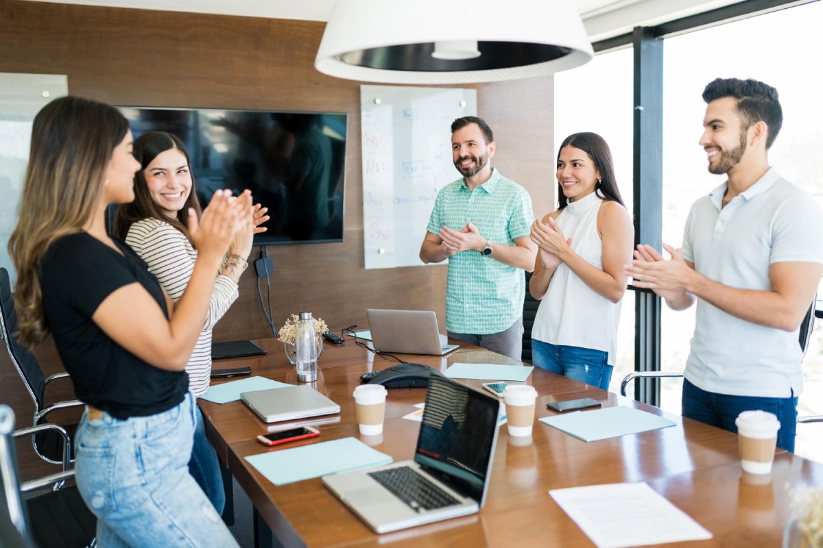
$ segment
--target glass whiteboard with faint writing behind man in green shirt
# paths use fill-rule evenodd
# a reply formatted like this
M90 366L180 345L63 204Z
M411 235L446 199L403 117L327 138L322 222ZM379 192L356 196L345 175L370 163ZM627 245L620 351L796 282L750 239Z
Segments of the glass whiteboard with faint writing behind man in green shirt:
M435 197L461 177L449 128L476 115L476 90L360 86L365 268L423 265Z

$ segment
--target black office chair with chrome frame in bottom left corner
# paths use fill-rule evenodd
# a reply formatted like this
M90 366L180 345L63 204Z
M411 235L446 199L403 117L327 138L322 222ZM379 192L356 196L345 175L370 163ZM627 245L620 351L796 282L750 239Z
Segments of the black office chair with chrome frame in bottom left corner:
M14 427L14 412L0 405L0 487L3 503L0 507L2 546L7 538L12 546L40 548L81 548L95 545L97 520L86 508L77 486L66 486L74 477L69 469L68 435L61 426L44 423L19 431ZM17 470L14 438L35 435L40 431L55 431L63 438L63 471L26 481L21 484ZM29 494L24 497L23 493Z

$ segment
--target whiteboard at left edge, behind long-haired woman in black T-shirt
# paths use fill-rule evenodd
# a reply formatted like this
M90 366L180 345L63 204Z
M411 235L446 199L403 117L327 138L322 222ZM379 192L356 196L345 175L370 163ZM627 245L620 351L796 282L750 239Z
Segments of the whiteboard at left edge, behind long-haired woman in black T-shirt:
M0 72L0 266L8 270L12 288L16 272L8 256L8 238L17 224L31 122L40 108L67 93L65 75Z

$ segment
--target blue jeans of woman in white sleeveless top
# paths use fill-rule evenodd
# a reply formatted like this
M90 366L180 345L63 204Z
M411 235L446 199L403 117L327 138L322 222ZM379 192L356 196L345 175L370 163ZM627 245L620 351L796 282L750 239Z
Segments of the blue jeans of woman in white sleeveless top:
M608 359L609 353L602 350L544 343L532 338L534 366L604 390L609 389L614 369L607 363Z

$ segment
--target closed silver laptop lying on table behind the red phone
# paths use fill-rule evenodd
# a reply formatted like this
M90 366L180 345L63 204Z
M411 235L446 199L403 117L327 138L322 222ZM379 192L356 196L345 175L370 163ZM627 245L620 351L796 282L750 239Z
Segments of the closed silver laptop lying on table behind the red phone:
M307 385L253 390L240 394L240 398L266 422L293 421L340 412L337 403Z

